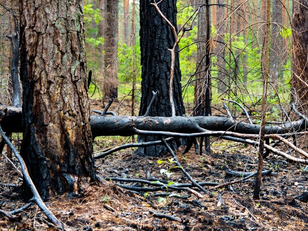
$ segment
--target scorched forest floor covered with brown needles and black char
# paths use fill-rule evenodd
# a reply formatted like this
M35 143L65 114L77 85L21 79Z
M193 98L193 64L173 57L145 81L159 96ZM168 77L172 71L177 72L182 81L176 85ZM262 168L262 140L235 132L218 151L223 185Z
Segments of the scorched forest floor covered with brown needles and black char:
M99 110L98 107L96 109ZM95 151L121 145L127 139L97 138ZM195 181L221 184L240 179L239 176L226 175L227 169L241 172L257 169L256 147L216 138L211 138L211 142L211 154L195 154L194 149L187 154L181 154L183 149L176 151L183 168ZM279 149L284 150L284 147ZM161 174L161 169L168 170L174 165L168 164L170 154L142 157L135 154L135 151L122 150L96 160L97 174L102 178L144 180L150 174L160 181L190 183L178 168L171 171L169 178L167 174ZM158 160L166 162L158 164ZM14 158L13 162L18 165ZM264 169L271 169L276 174L263 176L260 200L252 200L255 178L219 189L205 186L206 193L194 188L203 198L186 191L175 192L180 197L153 195L158 192L138 194L116 185L121 183L132 186L134 183L103 181L85 187L79 197L61 196L46 202L46 205L64 224L64 230L308 230L308 172L303 171L304 167L270 154L264 161ZM0 155L0 183L20 185L19 177L7 159ZM142 186L154 188L151 185ZM174 192L169 189L169 193ZM21 196L16 188L0 186L0 209L9 211L23 206L26 202ZM177 221L158 215L171 215ZM56 228L49 224L36 205L32 205L14 221L0 214L0 230Z

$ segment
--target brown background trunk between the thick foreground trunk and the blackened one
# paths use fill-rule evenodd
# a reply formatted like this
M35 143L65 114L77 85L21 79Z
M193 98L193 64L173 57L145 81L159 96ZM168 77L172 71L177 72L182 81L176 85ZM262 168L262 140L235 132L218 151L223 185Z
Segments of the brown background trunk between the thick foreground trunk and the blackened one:
M118 98L118 4L119 0L106 0L103 95L108 99Z

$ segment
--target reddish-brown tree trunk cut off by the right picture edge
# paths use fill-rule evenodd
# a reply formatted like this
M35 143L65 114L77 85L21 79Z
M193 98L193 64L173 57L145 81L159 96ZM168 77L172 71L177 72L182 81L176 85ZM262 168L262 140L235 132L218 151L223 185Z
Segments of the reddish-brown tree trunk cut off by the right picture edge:
M298 103L308 112L308 0L293 2L292 86Z

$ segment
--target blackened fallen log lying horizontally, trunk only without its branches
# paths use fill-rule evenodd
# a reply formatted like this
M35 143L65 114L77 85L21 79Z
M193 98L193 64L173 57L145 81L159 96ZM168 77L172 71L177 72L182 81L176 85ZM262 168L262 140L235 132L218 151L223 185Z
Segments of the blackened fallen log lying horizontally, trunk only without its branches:
M21 108L0 106L0 125L5 132L22 132ZM284 134L304 129L306 121L300 119L279 125L266 126L266 134ZM91 116L93 137L131 136L137 130L198 133L210 131L232 131L259 134L259 124L249 124L221 116Z

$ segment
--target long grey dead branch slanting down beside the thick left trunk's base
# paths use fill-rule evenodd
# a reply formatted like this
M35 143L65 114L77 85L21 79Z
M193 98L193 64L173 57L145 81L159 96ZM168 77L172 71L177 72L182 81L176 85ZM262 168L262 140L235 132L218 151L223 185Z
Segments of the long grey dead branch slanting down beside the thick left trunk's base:
M38 194L33 181L31 177L29 176L27 166L21 157L21 155L17 152L13 144L9 141L9 139L5 136L4 131L2 130L2 127L0 126L0 133L2 135L2 138L5 140L6 144L10 147L10 149L15 154L16 158L18 159L21 170L23 173L23 177L27 185L29 186L31 192L33 193L33 198L30 201L33 201L37 204L37 206L45 213L45 215L48 217L48 219L51 221L52 224L54 224L56 227L62 228L61 222L55 217L55 215L47 208L45 203L43 202L42 198Z

